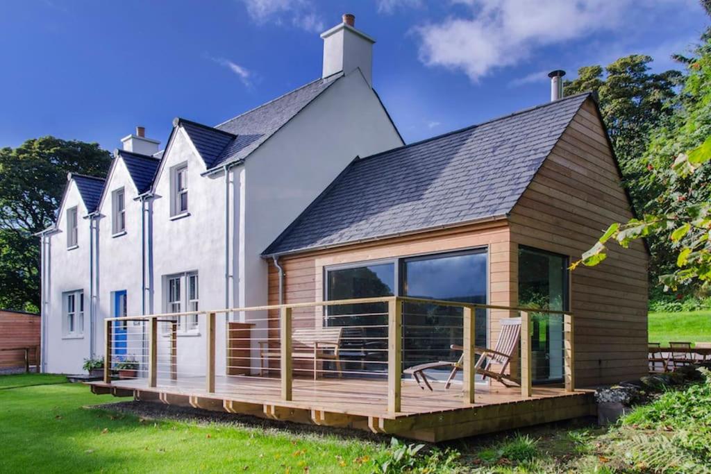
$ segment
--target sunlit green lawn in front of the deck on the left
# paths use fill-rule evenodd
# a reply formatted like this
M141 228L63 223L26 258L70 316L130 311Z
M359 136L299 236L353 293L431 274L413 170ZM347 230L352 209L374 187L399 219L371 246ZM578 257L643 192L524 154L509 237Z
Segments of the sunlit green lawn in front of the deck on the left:
M80 384L55 383L62 379L0 376L0 472L358 473L372 472L370 459L385 448L359 438L148 421L85 409L117 399Z

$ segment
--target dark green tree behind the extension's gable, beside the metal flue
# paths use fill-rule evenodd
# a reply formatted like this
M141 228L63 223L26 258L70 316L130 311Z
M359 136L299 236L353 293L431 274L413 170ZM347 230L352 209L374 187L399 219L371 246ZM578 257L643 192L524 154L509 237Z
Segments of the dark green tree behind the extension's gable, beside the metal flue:
M604 69L599 65L580 68L576 79L565 82L566 95L597 92L624 185L637 210L650 198L637 185L644 171L640 160L646 154L651 131L674 114L676 87L682 78L677 70L649 72L651 62L650 56L629 55Z

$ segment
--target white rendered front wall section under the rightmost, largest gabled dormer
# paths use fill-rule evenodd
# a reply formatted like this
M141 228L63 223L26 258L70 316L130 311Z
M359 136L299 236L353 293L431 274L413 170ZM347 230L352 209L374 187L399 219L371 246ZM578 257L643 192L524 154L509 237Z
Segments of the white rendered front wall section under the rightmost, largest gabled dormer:
M170 170L188 163L188 213L171 218ZM205 164L182 129L176 131L166 150L164 163L155 186L153 200L153 281L154 313L166 311L165 276L198 272L201 309L225 307L225 195L222 174L201 176ZM235 208L234 205L231 206ZM186 291L186 289L183 289ZM186 311L186 308L182 308ZM218 374L224 373L225 316L217 316L216 345ZM178 374L202 372L205 367L205 318L199 320L198 332L178 336ZM161 360L166 361L166 339L160 343ZM163 366L165 367L165 366ZM159 367L160 369L160 367ZM160 372L160 370L159 370ZM165 374L159 373L159 376Z

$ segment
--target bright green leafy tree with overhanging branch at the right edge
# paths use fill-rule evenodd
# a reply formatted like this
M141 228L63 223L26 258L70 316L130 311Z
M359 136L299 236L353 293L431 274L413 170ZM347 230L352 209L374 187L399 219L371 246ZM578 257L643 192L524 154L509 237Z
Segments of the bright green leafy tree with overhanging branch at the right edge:
M707 2L711 3L711 2ZM704 4L704 6L707 6ZM707 6L707 11L709 11ZM611 239L627 247L646 238L653 254L673 257L658 276L665 289L711 287L711 36L696 57L685 61L680 107L662 126L649 134L646 156L638 163L643 178L638 185L654 196L644 205L644 215L615 222L579 264L594 266L606 258Z

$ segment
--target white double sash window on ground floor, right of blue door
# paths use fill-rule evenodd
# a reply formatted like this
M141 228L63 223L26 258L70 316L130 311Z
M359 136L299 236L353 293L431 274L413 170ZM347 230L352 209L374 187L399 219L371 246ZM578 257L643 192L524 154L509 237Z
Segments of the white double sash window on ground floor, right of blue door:
M166 275L164 277L164 284L164 311L166 313L198 311L200 307L200 280L198 279L197 271L186 271L179 274ZM178 316L178 335L197 335L198 321L198 315L196 314ZM169 324L164 326L163 332L164 335L170 333Z

